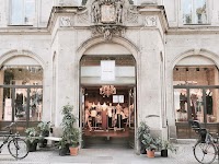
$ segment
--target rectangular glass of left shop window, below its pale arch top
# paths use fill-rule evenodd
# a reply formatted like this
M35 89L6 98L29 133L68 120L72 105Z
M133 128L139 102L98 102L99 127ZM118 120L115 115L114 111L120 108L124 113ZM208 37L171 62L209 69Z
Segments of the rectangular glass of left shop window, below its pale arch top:
M41 121L42 67L4 67L0 87L0 114L4 121Z

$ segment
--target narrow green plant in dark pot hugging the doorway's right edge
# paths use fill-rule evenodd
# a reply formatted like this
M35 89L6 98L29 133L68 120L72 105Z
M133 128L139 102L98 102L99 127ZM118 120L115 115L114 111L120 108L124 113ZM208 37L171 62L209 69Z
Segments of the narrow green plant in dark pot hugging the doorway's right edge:
M143 145L143 143L141 142L143 139L143 134L150 133L150 128L149 126L145 122L141 121L140 126L138 127L138 140L140 142L140 153L141 154L146 154L146 148Z

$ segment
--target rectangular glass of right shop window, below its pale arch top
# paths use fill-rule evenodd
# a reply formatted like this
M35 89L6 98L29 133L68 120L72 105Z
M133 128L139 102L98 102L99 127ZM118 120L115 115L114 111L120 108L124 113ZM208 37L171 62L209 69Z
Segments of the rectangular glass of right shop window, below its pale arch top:
M217 122L219 107L216 67L175 67L173 70L176 122L189 119Z

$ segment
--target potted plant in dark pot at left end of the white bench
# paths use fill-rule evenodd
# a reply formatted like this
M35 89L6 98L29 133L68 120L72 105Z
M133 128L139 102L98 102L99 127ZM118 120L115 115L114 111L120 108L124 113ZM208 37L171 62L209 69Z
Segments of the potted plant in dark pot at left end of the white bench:
M41 121L37 125L37 128L39 129L39 148L45 148L47 145L47 140L44 139L45 137L49 136L49 128L50 128L50 121Z

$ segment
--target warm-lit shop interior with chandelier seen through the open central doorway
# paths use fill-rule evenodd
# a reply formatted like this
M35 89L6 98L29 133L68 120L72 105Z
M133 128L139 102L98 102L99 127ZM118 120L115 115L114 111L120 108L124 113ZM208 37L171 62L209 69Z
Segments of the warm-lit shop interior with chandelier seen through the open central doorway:
M100 85L84 86L82 126L84 144L92 138L129 142L135 129L134 86ZM131 132L130 132L131 131ZM95 144L95 143L94 143Z

